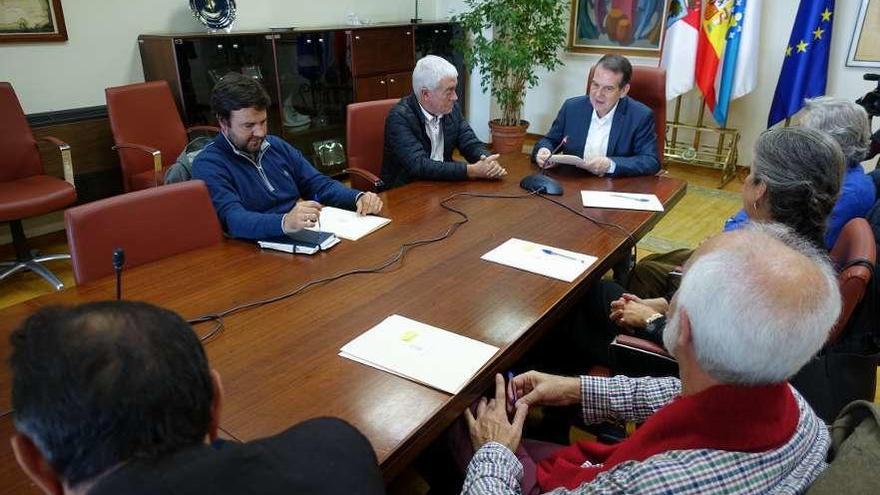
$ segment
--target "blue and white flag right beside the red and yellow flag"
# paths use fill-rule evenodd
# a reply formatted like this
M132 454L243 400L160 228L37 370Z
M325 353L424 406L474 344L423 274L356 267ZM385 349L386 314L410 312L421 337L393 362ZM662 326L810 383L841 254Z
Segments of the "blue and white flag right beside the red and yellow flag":
M761 0L736 0L727 31L727 45L721 66L715 121L727 125L730 102L751 93L758 80L758 35L761 30Z

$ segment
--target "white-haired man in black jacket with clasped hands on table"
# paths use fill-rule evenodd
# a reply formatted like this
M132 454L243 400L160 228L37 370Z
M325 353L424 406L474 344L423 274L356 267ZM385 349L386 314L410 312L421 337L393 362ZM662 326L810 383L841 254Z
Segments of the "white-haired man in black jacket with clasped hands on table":
M396 187L414 180L500 179L507 171L491 155L456 103L458 71L436 55L416 63L413 93L385 120L382 181ZM458 149L467 162L454 161Z

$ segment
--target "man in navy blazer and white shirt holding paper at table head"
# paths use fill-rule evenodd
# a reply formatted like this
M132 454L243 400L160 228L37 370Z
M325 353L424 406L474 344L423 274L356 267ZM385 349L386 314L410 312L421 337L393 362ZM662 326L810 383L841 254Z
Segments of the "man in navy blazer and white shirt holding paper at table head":
M596 64L589 95L566 100L550 131L535 143L532 157L538 166L555 166L547 159L567 137L557 153L584 158L582 168L593 174L650 175L660 170L654 115L626 96L631 77L632 65L626 57L603 56Z

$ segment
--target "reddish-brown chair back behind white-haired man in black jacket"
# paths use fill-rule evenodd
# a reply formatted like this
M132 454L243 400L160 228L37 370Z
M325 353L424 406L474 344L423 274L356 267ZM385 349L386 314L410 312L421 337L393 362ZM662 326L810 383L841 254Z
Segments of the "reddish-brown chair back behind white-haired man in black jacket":
M346 110L348 125L345 140L348 145L348 166L379 176L385 150L385 119L399 98L351 103ZM351 176L351 187L370 191L373 185L356 175Z

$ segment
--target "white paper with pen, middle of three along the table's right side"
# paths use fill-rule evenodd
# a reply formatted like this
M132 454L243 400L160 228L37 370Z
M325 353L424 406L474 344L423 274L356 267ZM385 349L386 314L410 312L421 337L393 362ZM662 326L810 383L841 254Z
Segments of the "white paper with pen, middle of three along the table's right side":
M481 259L565 282L578 278L596 262L595 256L515 238L484 254Z

